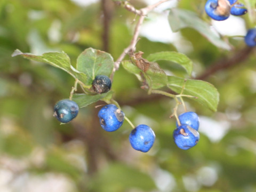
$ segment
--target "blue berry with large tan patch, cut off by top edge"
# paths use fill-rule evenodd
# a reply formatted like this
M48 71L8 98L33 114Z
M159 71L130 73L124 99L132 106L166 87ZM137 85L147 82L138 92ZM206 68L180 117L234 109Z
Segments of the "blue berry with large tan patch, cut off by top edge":
M208 0L205 12L214 20L226 20L230 15L230 3L227 0Z

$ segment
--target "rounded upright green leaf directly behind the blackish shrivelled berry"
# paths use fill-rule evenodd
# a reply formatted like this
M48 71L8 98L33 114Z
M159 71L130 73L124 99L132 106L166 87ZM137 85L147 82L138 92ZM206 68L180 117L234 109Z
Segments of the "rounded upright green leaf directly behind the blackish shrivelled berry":
M109 53L89 48L78 56L76 68L87 75L87 82L84 83L91 85L97 75L110 76L114 60Z

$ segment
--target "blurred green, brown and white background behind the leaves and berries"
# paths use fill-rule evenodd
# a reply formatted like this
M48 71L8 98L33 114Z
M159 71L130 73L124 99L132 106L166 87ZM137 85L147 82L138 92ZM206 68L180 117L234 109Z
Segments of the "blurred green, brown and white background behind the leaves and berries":
M155 2L130 1L137 9ZM77 56L93 47L116 60L129 45L138 16L111 0L1 0L0 191L256 191L256 52L243 41L256 24L256 2L241 0L249 13L221 22L207 17L205 2L173 0L157 7L147 15L137 43L145 57L159 51L185 53L194 64L188 78L204 79L220 92L216 113L185 100L201 118L197 146L175 146L172 99L148 95L122 66L115 73L112 89L126 116L155 131L156 142L144 154L130 146L127 122L111 133L100 127L95 106L103 102L82 108L74 121L60 125L52 116L53 106L69 97L73 77L44 63L11 57L15 49L65 51L75 65ZM172 7L197 14L231 49L220 49L195 29L173 33L167 19ZM187 77L175 63L159 65Z

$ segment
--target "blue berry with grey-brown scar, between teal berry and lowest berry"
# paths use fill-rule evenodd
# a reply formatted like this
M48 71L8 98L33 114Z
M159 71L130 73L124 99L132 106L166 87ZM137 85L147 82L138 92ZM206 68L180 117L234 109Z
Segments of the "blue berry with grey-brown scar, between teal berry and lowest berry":
M102 107L98 113L101 127L108 132L116 131L124 122L124 113L114 104Z

